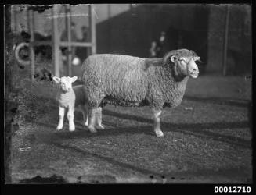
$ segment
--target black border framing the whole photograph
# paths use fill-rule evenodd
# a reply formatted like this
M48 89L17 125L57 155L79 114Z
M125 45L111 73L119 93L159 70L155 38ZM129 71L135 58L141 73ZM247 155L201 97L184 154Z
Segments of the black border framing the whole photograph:
M145 2L145 1L132 1L132 3L184 3L185 1L174 1L174 2L165 2L165 1L157 1L157 2ZM65 3L65 2L52 2L52 4L58 4L58 3ZM68 4L80 4L80 3L120 3L120 1L108 1L108 2L101 2L101 1L86 1L86 2L66 2ZM121 2L121 3L125 3L124 2ZM131 2L126 2L126 3L131 3ZM256 51L255 51L255 23L254 23L254 19L256 18L255 16L255 2L253 0L251 1L238 1L238 0L225 0L225 1L186 1L185 3L197 3L197 4L209 4L209 3L214 3L214 4L225 4L225 3L232 3L232 4L236 4L236 3L241 3L241 4L251 4L252 5L252 51L253 51L253 61L252 61L252 64L253 64L253 67L252 67L252 83L254 83L254 71L255 71L255 54L256 54ZM11 1L6 1L6 2L3 2L2 3L2 9L1 9L1 13L2 13L2 24L4 24L4 5L12 5L12 4L37 4L37 5L43 5L45 3L41 2L24 2L24 1L15 1L15 2L11 2ZM49 4L50 5L50 4ZM2 33L4 32L4 28L2 28ZM4 34L2 36L2 41L4 40ZM2 43L2 45L4 45L4 43ZM5 46L2 47L3 50L5 48ZM4 54L4 51L2 52L2 54ZM4 61L4 56L2 56L2 60ZM2 62L2 65L4 64L5 62ZM4 73L4 66L1 66L2 67L2 73ZM4 89L4 82L3 82L3 79L4 79L4 76L2 75L1 76L1 80L2 80L2 87ZM252 106L253 106L253 109L252 109L252 116L254 116L254 91L255 91L255 86L254 84L252 84ZM3 92L3 90L2 90ZM4 100L4 93L2 93L2 97L3 97L3 100ZM3 102L3 101L2 101ZM4 108L4 105L2 105L2 108ZM3 115L5 114L5 112L3 112ZM4 118L2 117L3 119L3 122L2 124L4 124ZM252 135L253 135L253 139L252 139L252 147L253 147L253 165L256 165L255 163L255 129L254 129L254 124L255 120L254 118L252 118L252 123L251 123L251 132L252 132ZM1 130L1 135L2 137L4 138L4 128ZM96 191L98 190L105 190L106 188L118 188L118 187L121 187L121 188L127 188L127 190L133 190L134 187L135 189L139 189L139 190L143 190L142 192L146 193L147 190L150 190L152 191L153 193L153 190L155 190L154 192L156 193L160 193L159 190L167 190L165 193L203 193L203 194L215 194L214 193L214 187L215 186L251 186L252 188L252 192L255 191L255 168L253 168L253 183L252 184L229 184L229 183L226 183L226 184L223 184L223 183L220 183L220 184L203 184L203 183L199 183L199 184L97 184L97 185L89 185L89 184L50 184L50 185L47 185L47 184L20 184L20 185L17 185L17 184L5 184L5 162L4 162L4 140L2 139L1 140L1 194L12 194L12 193L38 193L38 192L41 192L41 193L45 193L45 192L49 192L51 191L52 193L95 193ZM52 191L53 189L55 189L57 187L57 190L55 191ZM144 188L145 187L145 188ZM81 188L82 191L74 191L74 188L75 189L78 189ZM59 192L60 190L60 192ZM88 192L88 190L93 190L92 192ZM135 191L137 191L135 190ZM146 190L146 191L145 191ZM117 193L125 193L128 191L119 191L119 190L111 190L111 193L114 193L114 192L117 192Z

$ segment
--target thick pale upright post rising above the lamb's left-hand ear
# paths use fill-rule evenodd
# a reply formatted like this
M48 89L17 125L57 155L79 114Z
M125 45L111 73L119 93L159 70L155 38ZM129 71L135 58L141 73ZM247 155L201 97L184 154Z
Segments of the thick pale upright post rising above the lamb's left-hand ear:
M52 8L52 65L54 74L59 77L59 32L58 32L58 7Z

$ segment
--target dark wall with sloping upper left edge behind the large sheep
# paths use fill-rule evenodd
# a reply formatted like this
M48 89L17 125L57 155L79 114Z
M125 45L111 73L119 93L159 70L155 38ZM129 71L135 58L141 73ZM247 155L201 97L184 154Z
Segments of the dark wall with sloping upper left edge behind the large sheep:
M166 51L188 48L206 64L207 16L205 5L139 5L97 24L97 53L148 58L151 41L165 31ZM182 43L178 44L178 36Z

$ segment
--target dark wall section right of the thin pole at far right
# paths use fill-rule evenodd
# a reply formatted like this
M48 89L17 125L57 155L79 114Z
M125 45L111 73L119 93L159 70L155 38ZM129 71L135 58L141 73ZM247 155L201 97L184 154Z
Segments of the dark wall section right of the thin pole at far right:
M230 7L228 64L229 75L251 72L252 41L250 10L244 5ZM247 12L249 11L249 12ZM249 13L249 15L248 15Z

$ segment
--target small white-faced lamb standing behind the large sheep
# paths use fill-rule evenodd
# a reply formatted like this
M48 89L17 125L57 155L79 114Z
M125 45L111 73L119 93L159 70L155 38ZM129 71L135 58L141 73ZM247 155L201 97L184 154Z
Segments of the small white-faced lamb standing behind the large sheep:
M81 111L85 126L88 126L88 108L87 108L87 93L83 85L72 87L72 83L78 79L77 76L69 77L63 76L61 78L53 76L52 79L59 86L56 100L59 103L59 123L57 130L63 129L63 119L65 115L65 108L68 109L67 119L69 121L69 130L74 131L74 111Z

